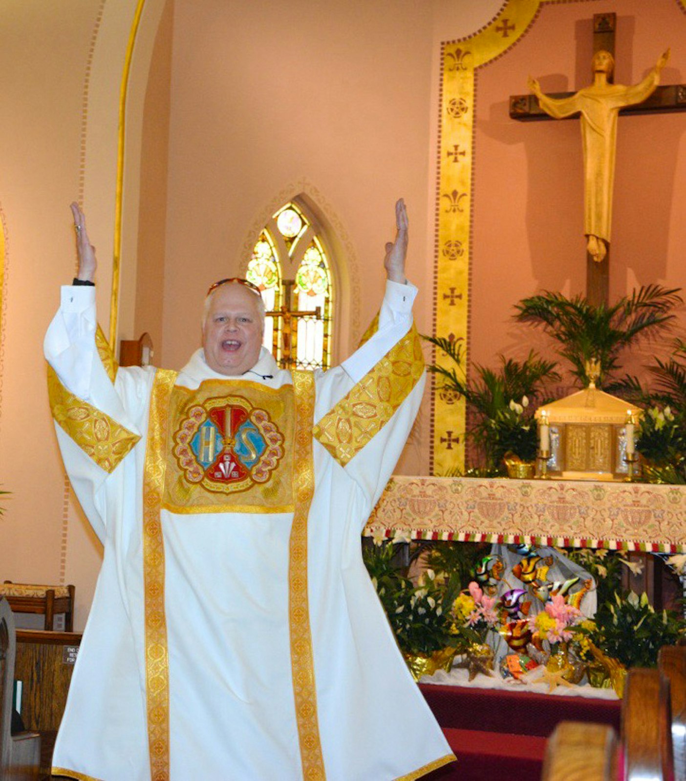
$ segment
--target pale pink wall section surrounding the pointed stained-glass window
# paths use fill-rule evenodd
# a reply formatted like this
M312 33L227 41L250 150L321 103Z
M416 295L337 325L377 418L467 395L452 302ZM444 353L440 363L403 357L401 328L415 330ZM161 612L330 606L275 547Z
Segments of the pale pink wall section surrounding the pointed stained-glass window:
M409 276L425 278L430 87L431 14L420 4L259 0L236 13L224 2L177 0L167 365L182 365L198 345L199 326L179 319L177 307L196 306L199 316L208 284L245 262L255 219L299 180L320 192L351 238L361 328L381 301L384 242L400 195L413 226Z

